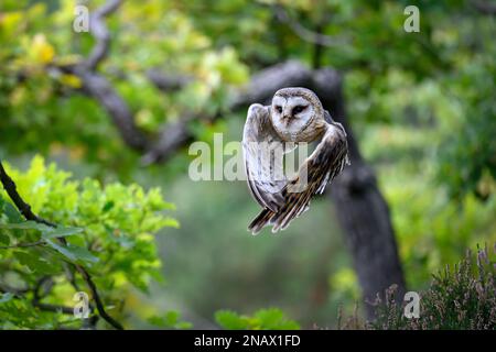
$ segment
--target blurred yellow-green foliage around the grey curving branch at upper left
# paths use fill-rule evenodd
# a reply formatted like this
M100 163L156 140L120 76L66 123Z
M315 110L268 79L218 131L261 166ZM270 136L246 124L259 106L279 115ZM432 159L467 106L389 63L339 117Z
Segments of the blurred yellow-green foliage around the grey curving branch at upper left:
M89 11L103 2L91 1ZM74 6L73 0L54 1L51 8L28 1L0 4L1 144L10 153L36 150L129 172L137 155L123 145L104 107L83 95L78 77L57 70L84 59L94 45L88 33L74 32ZM125 3L108 23L119 35L112 36L101 73L151 139L164 122L224 111L231 88L248 79L237 52L215 48L174 1ZM150 68L187 77L188 84L164 95L147 78Z

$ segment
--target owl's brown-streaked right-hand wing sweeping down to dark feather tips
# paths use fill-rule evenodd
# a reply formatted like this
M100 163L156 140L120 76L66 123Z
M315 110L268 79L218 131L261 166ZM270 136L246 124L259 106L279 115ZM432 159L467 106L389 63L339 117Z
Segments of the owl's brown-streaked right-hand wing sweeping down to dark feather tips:
M256 234L267 224L272 226L272 232L285 229L294 218L309 209L311 198L322 194L327 183L349 163L347 154L348 145L344 128L336 122L326 123L320 144L298 174L283 187L282 206L277 211L262 210L248 230Z

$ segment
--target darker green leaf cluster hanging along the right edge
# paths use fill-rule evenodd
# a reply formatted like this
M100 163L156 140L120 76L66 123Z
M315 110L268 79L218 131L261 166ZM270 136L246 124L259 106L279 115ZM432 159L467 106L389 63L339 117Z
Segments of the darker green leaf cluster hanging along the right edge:
M460 97L463 116L450 121L450 135L439 146L438 180L446 184L450 196L459 201L467 193L487 200L496 190L496 64L492 58L496 44L487 50L488 56L476 55L448 81L450 92Z

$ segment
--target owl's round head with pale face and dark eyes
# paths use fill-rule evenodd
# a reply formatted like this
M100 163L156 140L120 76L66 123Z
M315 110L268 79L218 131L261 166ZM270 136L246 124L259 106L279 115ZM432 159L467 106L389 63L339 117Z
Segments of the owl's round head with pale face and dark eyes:
M285 141L301 140L302 133L311 132L312 123L323 121L324 108L310 89L292 87L276 92L270 107L272 125Z

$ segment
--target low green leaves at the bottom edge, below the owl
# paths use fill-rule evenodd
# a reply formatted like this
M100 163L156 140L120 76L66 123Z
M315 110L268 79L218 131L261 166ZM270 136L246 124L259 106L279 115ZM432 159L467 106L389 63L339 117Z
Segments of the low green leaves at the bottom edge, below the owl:
M219 310L215 321L227 330L298 330L300 326L276 308L257 310L251 317L230 310Z

